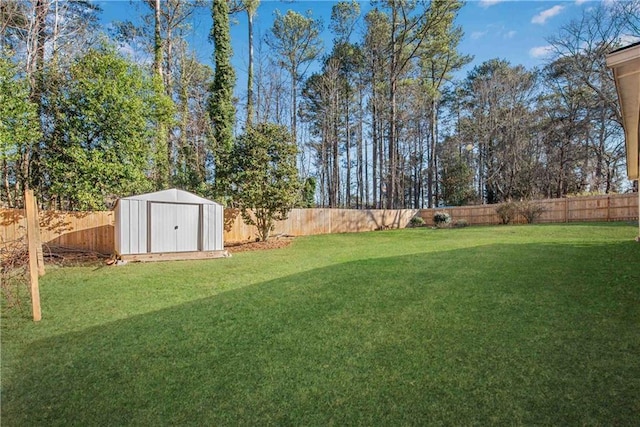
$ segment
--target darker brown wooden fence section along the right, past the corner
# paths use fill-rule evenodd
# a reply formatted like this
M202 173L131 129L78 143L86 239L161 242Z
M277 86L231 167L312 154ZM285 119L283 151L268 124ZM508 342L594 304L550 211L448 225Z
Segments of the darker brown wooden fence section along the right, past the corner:
M638 219L638 193L612 194L605 196L569 197L536 201L544 211L536 222L588 222L588 221L632 221ZM465 220L469 225L500 224L496 213L499 205L459 206L441 209L423 209L420 216L427 225L433 225L435 212L445 211L452 221ZM512 223L522 224L526 220L518 215Z

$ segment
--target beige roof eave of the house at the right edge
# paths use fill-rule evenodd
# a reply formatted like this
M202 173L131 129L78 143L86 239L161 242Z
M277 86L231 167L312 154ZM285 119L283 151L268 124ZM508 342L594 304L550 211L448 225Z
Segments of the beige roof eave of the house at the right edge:
M627 147L627 175L638 179L640 162L640 43L623 47L607 55L613 69Z

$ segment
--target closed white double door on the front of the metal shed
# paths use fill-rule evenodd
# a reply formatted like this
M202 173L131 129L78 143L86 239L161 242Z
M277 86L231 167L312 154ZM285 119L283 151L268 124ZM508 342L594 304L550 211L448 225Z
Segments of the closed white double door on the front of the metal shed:
M151 252L197 251L200 205L150 203Z

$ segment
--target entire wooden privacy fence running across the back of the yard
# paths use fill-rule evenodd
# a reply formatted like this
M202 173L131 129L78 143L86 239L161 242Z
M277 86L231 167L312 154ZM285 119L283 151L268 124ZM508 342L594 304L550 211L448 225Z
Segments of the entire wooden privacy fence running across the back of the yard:
M638 219L638 194L540 200L545 209L538 222L631 221ZM470 225L499 224L497 205L418 210L294 209L285 221L276 223L273 235L303 236L349 233L406 227L419 214L433 224L436 211L446 211L453 220ZM516 218L516 223L524 222ZM42 242L84 251L111 254L114 250L113 212L40 212ZM24 211L0 209L0 244L21 239L26 233ZM225 242L253 240L256 229L246 225L238 212L225 210ZM1 247L0 247L1 249Z

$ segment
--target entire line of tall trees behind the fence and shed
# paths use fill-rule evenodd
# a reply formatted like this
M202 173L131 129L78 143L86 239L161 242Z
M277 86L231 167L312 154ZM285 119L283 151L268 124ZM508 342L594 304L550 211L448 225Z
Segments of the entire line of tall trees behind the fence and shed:
M49 208L104 209L177 186L240 207L256 203L247 168L260 165L272 166L262 181L295 190L280 196L287 206L422 208L625 186L605 55L640 35L638 0L599 4L549 35L544 67L496 58L463 78L473 58L459 51L457 0L375 1L366 13L337 2L330 43L311 12L277 12L254 34L259 0L140 6L140 20L105 29L94 2L0 4L4 205L34 188ZM203 10L213 67L186 41ZM249 24L246 88L231 64L234 16Z

